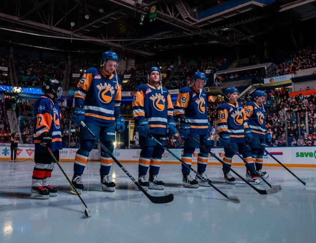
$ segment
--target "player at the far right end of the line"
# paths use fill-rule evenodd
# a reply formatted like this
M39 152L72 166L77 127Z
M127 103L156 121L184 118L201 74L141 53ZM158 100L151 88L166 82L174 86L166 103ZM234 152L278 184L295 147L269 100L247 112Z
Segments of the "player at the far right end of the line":
M262 90L256 90L252 94L253 102L247 102L244 106L245 108L245 118L248 122L248 127L251 130L252 140L249 143L251 148L251 156L253 162L255 163L256 170L265 179L269 176L266 172L262 171L263 165L263 148L265 144L269 144L272 141L270 133L265 133L265 109L263 107L263 102L266 99L266 93ZM261 147L255 143L261 144ZM248 181L253 181L251 174L246 171L246 179Z

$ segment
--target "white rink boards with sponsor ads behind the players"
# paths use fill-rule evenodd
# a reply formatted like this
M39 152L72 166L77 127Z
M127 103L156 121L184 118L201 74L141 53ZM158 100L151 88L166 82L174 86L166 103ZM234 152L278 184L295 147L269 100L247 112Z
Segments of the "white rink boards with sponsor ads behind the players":
M10 160L11 150L9 144L3 146L0 144L0 159ZM74 161L75 154L78 149L63 149L60 151L60 161ZM292 167L316 167L316 146L303 146L303 147L267 147L266 150L274 157L276 157L281 163ZM172 149L172 152L176 156L181 157L182 149ZM197 161L197 155L199 150L196 149L193 154L193 163ZM225 153L223 148L213 148L212 153L223 158ZM138 162L140 157L140 149L114 149L113 155L120 162ZM21 144L18 146L17 152L18 160L25 160L28 158L34 159L34 146ZM264 153L264 163L270 166L279 165L271 156ZM93 150L90 153L89 160L97 161L99 159L98 150ZM180 163L174 156L165 152L162 155L162 161L164 163ZM220 164L215 158L209 155L210 164ZM233 157L233 163L235 165L243 165L243 161L238 157Z

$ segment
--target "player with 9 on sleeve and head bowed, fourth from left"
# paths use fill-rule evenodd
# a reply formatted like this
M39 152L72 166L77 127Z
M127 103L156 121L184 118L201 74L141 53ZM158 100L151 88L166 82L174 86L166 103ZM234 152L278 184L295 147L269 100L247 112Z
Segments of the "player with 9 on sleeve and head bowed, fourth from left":
M192 155L196 143L188 138L188 134L202 143L209 151L211 150L211 125L208 121L207 99L203 86L206 82L204 72L196 71L193 74L193 84L190 87L181 88L175 105L176 121L180 121L179 135L184 136L184 149L181 159L189 166L192 165ZM208 164L209 153L200 148L197 156L197 172L204 178ZM206 182L199 180L196 176L193 179L190 170L182 165L182 182L184 187L198 188L198 186L210 187Z

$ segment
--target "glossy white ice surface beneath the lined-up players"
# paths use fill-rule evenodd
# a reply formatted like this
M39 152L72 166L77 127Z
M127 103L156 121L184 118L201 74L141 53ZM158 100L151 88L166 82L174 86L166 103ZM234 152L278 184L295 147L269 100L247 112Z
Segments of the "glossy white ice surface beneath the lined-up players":
M61 162L72 178L73 163ZM135 177L137 163L123 163ZM111 175L115 192L103 192L99 162L89 162L82 176L85 207L55 165L50 184L58 196L49 200L30 198L34 163L0 161L0 243L315 243L316 188L303 186L281 167L264 167L268 182L282 191L260 195L236 176L236 185L224 182L221 166L208 166L215 186L241 203L228 201L212 188L185 189L181 165L162 164L160 179L173 193L168 204L153 204L135 189L133 182L115 164ZM235 166L245 175L245 167ZM196 165L193 165L196 169ZM289 168L299 178L316 182L316 169ZM191 173L192 174L192 173ZM193 174L192 174L193 175ZM267 185L257 186L268 189Z

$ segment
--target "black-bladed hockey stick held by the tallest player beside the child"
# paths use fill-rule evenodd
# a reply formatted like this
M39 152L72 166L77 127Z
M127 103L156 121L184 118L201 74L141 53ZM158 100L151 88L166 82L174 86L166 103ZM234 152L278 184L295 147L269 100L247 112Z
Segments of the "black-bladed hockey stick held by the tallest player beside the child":
M85 124L85 122L81 121L81 125L83 127L85 127L88 132L91 134L91 136L100 144L100 146L105 150L105 152L111 156L111 158L115 161L115 163L117 163L118 166L120 166L120 168L123 170L123 172L125 172L125 174L128 175L128 177L135 183L135 185L140 189L140 191L142 191L146 197L148 197L148 199L152 202L152 203L170 203L174 200L174 194L169 194L169 195L165 195L165 196L152 196L149 195L141 186L140 184L134 179L134 177L128 173L128 171L123 167L123 165L116 159L116 157L114 157L112 155L112 153L110 153L110 151L108 151L108 149L105 147L105 145L97 138L95 137L95 135L91 132L91 130L87 127L87 125Z

